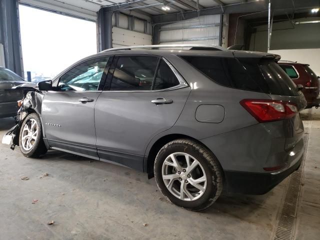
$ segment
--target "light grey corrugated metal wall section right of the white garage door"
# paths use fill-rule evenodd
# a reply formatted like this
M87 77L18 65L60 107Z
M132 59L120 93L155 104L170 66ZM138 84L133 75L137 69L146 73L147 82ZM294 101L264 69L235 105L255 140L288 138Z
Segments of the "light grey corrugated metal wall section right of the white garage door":
M219 43L220 15L170 23L160 28L160 44L215 44Z

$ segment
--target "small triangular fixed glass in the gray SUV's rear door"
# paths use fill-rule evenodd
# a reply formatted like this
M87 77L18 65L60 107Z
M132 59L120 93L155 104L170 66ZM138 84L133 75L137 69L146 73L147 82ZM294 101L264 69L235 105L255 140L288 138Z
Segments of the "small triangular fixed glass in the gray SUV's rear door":
M153 90L161 90L176 86L179 84L179 80L172 72L170 67L164 62L160 61L158 71L154 80Z

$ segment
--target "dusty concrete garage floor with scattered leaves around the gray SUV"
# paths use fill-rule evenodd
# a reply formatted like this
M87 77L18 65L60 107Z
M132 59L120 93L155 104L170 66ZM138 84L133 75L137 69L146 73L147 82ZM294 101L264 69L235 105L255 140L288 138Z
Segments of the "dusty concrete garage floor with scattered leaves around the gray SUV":
M319 110L303 113L310 131L296 239L320 235ZM13 123L0 119L0 137ZM0 144L0 239L273 239L287 183L264 195L223 194L191 212L164 200L144 173L58 151L26 158Z

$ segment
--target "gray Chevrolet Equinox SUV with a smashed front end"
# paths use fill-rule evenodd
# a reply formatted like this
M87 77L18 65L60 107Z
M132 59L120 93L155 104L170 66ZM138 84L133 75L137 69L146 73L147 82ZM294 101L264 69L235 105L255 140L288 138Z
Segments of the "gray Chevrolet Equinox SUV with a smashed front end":
M306 101L278 55L143 47L99 52L30 89L6 135L11 147L146 172L166 199L191 210L222 189L263 194L299 167Z

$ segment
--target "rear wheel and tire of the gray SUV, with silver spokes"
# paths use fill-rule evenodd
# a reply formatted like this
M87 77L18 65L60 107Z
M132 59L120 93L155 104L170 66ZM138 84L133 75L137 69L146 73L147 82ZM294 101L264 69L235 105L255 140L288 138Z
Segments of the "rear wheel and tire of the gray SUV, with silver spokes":
M170 141L159 150L154 176L164 197L188 210L209 207L222 191L219 162L207 148L190 139Z

